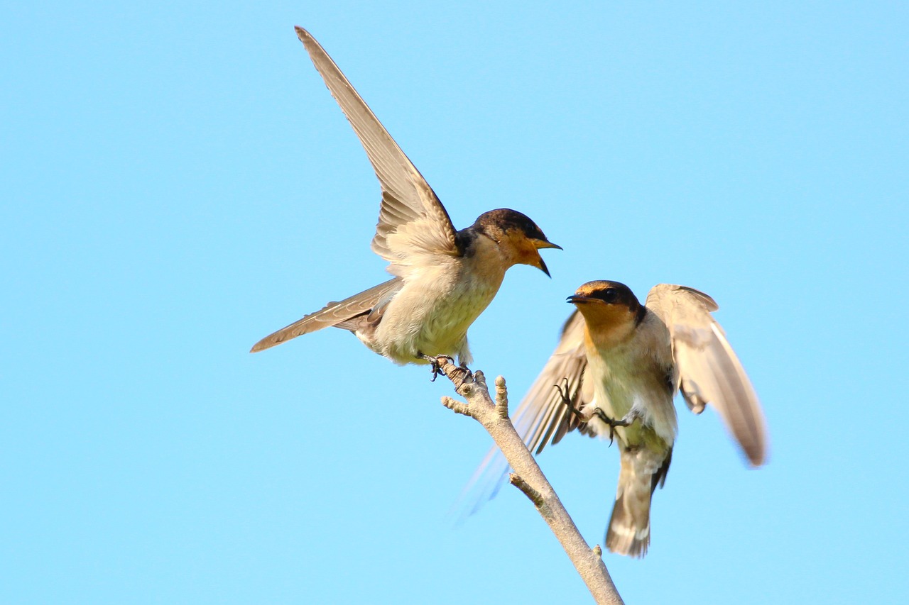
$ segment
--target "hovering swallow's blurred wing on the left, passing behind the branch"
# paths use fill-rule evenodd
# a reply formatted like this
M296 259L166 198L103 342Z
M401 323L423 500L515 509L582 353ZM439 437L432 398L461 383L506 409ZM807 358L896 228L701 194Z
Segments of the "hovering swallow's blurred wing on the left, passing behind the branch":
M512 414L515 430L534 455L543 451L547 443L558 443L565 433L578 428L577 416L568 410L555 386L564 388L567 384L574 409L580 409L593 399L593 389L584 384L586 368L584 317L575 311L565 322L562 338L543 372ZM494 498L507 474L508 462L494 445L464 487L459 498L461 506L456 507L462 508L464 514L473 514L485 501Z

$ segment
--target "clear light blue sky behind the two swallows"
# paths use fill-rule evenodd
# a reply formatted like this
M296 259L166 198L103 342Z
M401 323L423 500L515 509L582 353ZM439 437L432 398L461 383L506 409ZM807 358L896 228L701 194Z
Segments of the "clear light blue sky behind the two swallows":
M904 3L7 4L0 19L0 600L586 602L446 382L326 330L385 279L379 187L297 41L325 45L458 227L564 246L474 324L512 399L580 283L683 283L764 403L749 471L680 405L628 603L904 602ZM602 541L617 455L541 464Z

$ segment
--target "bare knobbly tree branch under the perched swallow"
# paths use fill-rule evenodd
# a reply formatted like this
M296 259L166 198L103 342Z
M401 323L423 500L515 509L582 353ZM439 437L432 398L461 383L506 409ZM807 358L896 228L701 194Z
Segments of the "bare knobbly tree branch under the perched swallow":
M467 400L458 402L451 397L443 397L446 408L470 416L483 425L493 437L495 444L504 453L505 460L511 464L514 473L511 482L534 503L534 507L549 525L556 539L562 544L574 569L581 575L587 589L594 595L594 600L601 605L623 603L618 590L615 590L609 571L603 562L603 550L599 546L591 549L574 525L574 521L565 511L562 502L546 481L543 471L534 460L533 454L524 445L521 436L514 430L508 418L508 392L502 376L495 379L495 401L489 395L483 372L470 372L460 368L451 360L440 357L439 369L454 383L454 391Z

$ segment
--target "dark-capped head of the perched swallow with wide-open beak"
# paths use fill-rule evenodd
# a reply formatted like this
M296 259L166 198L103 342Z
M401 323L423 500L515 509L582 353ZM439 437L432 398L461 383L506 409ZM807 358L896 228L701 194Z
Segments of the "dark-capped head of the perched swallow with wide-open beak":
M543 248L562 250L562 246L547 240L543 231L527 216L507 208L480 214L474 229L498 244L509 263L529 264L546 275L549 275L549 269L539 251Z

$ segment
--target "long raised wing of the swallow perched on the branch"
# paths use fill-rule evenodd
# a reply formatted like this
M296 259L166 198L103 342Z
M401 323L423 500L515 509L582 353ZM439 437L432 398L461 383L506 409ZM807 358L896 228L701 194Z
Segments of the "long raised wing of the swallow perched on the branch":
M302 27L296 28L296 35L354 126L382 183L382 206L373 252L389 263L404 266L413 263L415 255L460 254L454 225L432 187L356 94L325 49Z

